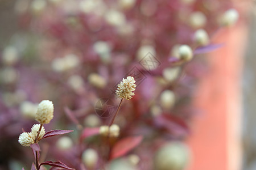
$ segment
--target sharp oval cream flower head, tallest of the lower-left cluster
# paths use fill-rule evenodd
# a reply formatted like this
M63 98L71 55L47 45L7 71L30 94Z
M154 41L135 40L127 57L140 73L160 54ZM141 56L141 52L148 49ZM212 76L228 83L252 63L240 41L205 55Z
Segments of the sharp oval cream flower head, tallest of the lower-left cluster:
M38 105L35 120L40 124L49 124L53 118L53 104L52 101L43 100Z

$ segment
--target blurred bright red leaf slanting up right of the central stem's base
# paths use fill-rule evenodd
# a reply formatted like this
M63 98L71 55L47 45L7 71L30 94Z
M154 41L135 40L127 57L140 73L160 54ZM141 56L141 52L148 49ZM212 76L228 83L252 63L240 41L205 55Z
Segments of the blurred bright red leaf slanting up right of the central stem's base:
M112 151L110 153L110 159L115 159L127 154L127 152L137 147L139 143L142 142L142 139L142 135L139 135L137 137L126 137L124 139L121 139L121 141L118 141L112 148Z

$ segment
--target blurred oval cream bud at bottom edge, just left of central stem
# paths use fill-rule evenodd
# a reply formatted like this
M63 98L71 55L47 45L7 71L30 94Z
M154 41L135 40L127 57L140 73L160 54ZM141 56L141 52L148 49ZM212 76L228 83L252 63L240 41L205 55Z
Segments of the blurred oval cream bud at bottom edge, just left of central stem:
M88 148L82 153L82 162L88 169L95 169L98 162L98 153L92 149Z

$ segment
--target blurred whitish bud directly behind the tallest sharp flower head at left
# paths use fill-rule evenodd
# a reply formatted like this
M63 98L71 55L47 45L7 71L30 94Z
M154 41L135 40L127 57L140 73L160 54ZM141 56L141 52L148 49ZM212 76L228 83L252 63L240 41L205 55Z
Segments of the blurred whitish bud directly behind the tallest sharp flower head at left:
M19 106L19 111L23 116L28 118L35 118L36 111L38 110L38 104L31 103L30 101L23 101Z

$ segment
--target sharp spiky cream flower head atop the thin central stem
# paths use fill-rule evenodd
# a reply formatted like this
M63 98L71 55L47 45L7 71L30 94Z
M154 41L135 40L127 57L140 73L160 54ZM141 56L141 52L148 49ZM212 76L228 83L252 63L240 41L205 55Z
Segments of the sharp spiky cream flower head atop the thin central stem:
M136 88L135 80L133 76L127 76L126 79L123 78L123 81L121 81L117 85L117 90L115 91L118 97L124 98L126 100L130 100L134 95L134 90Z

